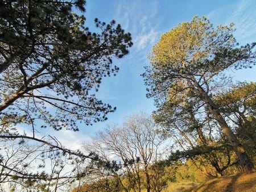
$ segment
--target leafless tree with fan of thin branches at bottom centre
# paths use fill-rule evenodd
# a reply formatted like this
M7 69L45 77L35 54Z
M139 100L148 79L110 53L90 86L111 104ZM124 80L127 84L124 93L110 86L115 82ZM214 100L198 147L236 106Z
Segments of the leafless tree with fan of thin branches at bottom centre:
M97 132L92 143L86 144L85 148L93 146L93 150L110 164L113 160L118 162L120 169L112 172L112 176L118 178L123 190L141 191L144 185L147 191L154 191L150 182L150 165L160 158L163 144L157 130L150 116L132 115L122 126L113 124ZM123 183L121 176L126 177L128 185Z

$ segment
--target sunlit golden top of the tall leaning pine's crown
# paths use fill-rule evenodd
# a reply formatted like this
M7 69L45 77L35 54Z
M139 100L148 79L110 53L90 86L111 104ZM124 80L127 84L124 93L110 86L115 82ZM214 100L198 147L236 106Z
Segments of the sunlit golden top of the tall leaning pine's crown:
M151 63L182 65L184 69L188 69L188 65L207 59L212 52L210 47L217 46L215 40L218 36L233 31L232 26L233 24L229 27L219 26L214 30L207 18L195 16L191 22L180 23L160 37L159 43L152 49ZM225 43L233 42L233 37L230 37Z

